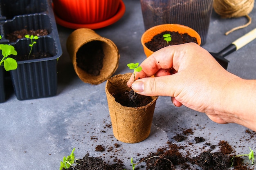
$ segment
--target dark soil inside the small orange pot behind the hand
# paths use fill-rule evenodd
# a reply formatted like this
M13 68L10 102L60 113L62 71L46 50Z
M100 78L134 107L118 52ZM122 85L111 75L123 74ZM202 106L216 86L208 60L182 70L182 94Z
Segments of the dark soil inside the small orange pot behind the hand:
M167 43L166 40L164 40L164 37L163 37L164 34L170 34L172 40ZM180 34L176 31L164 31L162 33L155 35L151 41L146 42L145 46L148 49L150 49L151 51L155 52L155 51L162 49L166 46L184 44L184 43L188 43L188 42L195 42L196 44L198 44L196 38L191 37L187 33Z

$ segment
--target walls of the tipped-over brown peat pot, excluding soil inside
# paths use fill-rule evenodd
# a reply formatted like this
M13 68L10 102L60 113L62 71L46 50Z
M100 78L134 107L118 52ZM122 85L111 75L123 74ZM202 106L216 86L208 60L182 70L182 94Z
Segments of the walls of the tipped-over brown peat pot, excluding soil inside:
M103 49L103 67L100 74L95 76L87 73L83 69L79 68L76 63L76 53L84 45L92 41L101 42L101 48ZM73 31L67 38L67 52L72 60L74 70L78 77L85 83L100 84L115 73L119 62L119 51L117 46L111 40L101 37L95 33L92 29L81 28ZM84 54L84 57L88 57Z

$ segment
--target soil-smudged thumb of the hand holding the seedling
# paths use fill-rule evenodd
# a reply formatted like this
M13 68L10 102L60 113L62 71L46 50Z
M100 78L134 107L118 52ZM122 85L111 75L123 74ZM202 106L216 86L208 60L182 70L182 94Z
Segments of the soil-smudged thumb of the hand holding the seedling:
M175 75L175 74L174 74ZM161 77L146 77L137 79L132 84L132 90L140 95L145 96L171 96L175 97L175 88L172 79L174 75ZM174 76L175 77L175 76Z

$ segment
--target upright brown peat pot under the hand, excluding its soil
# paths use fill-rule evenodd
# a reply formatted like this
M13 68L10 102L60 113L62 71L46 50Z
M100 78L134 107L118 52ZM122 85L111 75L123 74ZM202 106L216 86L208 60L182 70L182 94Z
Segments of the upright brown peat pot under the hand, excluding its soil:
M108 108L115 138L125 143L137 143L146 139L150 134L157 96L146 106L126 107L115 101L112 94L120 94L130 89L127 81L132 73L115 75L106 83Z

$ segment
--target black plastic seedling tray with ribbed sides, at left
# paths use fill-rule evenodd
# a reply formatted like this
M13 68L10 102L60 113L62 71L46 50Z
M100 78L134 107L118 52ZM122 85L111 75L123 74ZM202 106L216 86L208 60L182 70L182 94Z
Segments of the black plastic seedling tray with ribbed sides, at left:
M49 34L35 40L32 53L44 52L50 57L18 60L18 68L10 71L15 95L18 100L54 96L57 93L57 60L62 55L62 49L51 0L0 0L0 44L10 44L18 55L28 55L30 39L9 42L6 38L7 34L22 29L46 29ZM3 66L0 66L1 82L4 82L4 72ZM4 102L4 83L1 82L0 102Z

